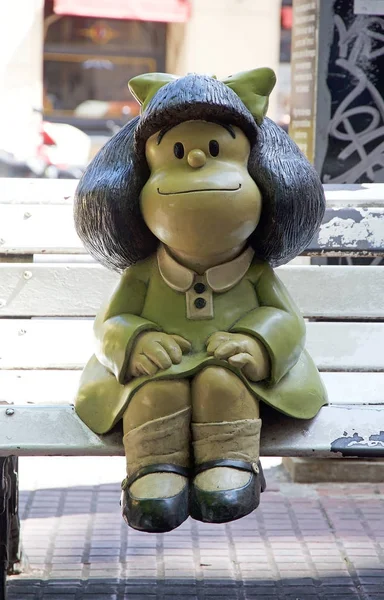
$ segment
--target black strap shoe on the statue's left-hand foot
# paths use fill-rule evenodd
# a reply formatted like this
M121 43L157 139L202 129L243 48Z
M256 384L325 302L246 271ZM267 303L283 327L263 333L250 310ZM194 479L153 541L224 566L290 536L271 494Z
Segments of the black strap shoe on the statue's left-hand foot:
M177 465L148 465L124 479L121 505L125 522L133 529L148 533L164 533L181 525L189 516L188 483L170 498L136 498L130 492L134 481L150 473L176 473L189 477L189 470Z

